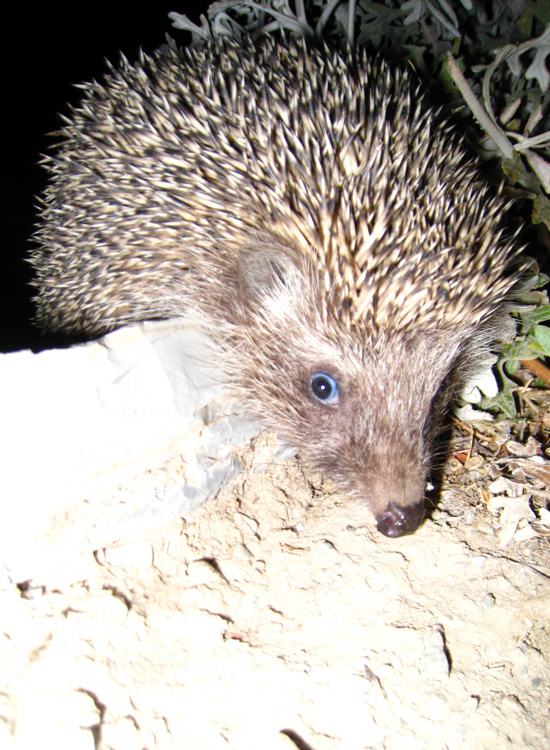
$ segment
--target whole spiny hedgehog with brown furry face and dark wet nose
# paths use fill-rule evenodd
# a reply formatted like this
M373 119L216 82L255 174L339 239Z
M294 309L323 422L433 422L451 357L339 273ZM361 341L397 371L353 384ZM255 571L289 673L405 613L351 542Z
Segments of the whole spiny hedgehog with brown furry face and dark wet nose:
M398 537L517 284L508 208L407 71L174 43L83 84L46 157L40 325L184 317L246 413Z

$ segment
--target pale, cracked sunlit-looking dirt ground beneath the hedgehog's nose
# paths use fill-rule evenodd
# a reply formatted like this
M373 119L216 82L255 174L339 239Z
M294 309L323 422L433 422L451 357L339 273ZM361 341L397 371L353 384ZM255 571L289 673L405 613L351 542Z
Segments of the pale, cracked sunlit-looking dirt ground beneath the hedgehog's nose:
M502 548L465 500L386 539L297 459L252 471L270 450L72 576L3 581L0 747L549 747L545 538Z

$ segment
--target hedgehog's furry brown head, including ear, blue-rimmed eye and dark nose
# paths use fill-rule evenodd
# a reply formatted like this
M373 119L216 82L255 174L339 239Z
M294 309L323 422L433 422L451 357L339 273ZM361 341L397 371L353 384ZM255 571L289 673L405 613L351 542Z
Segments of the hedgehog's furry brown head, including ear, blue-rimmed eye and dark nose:
M271 270L249 265L243 272L258 282L248 285L242 302L248 308L239 357L243 392L265 424L366 501L379 531L412 533L424 517L458 336L349 329L327 314L315 274L280 258L270 261Z

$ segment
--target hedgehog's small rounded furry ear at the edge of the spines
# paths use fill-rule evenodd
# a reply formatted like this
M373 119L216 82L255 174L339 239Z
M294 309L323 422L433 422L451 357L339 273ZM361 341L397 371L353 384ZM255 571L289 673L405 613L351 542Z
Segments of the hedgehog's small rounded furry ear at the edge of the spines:
M261 302L280 294L296 273L291 251L278 242L262 239L253 247L243 248L239 256L239 285L245 299Z

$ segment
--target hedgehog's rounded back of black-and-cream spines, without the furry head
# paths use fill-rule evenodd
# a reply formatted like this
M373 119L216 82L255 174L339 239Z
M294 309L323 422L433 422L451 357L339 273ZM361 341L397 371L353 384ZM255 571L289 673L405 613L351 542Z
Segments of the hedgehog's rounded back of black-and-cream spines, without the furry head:
M309 258L350 325L472 324L512 283L501 202L381 62L270 40L166 48L83 89L48 159L44 326L215 317L258 237Z

